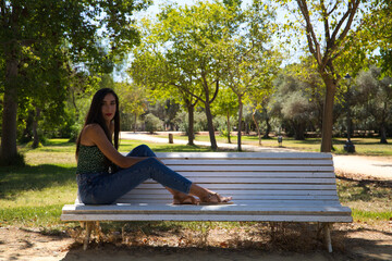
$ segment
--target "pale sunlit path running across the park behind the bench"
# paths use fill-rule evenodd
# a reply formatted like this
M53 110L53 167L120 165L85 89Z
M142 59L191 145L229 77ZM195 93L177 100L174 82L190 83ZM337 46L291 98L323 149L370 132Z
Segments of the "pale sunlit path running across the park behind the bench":
M132 133L122 132L121 138L134 139L134 140L146 140L151 142L168 144L169 138L155 137L147 133ZM187 140L174 139L174 144L186 145ZM197 146L210 146L209 141L197 141ZM218 142L220 148L236 149L236 144L221 144ZM258 151L258 152L295 152L298 150L287 148L266 148L253 145L243 145L244 151ZM392 181L392 158L391 157L364 157L364 156L333 156L334 167L338 172L359 174L364 176L371 176L379 179Z

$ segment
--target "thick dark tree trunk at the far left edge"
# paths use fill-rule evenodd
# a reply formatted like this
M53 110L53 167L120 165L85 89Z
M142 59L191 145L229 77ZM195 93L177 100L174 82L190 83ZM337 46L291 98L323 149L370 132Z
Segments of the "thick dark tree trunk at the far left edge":
M0 157L5 164L16 158L17 59L7 59Z

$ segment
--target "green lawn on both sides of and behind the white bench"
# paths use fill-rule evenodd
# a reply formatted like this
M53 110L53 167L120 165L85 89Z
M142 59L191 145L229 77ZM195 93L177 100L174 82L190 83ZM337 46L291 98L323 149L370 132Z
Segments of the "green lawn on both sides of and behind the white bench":
M245 139L252 140L250 137ZM358 147L360 140L357 140ZM273 140L264 140L264 144ZM284 140L285 146L302 148L315 147L316 141L299 142ZM373 154L384 147L367 141L364 153ZM122 140L120 151L128 151L140 141ZM151 144L155 151L209 151L208 148L184 145ZM371 148L371 149L370 149ZM75 145L65 139L51 139L38 149L21 146L27 166L0 167L0 227L45 227L63 229L75 226L60 221L61 208L73 203L76 196ZM309 149L311 150L311 149ZM390 150L390 148L389 148ZM363 182L347 177L338 178L341 201L353 209L355 221L388 221L392 216L392 185L390 183Z

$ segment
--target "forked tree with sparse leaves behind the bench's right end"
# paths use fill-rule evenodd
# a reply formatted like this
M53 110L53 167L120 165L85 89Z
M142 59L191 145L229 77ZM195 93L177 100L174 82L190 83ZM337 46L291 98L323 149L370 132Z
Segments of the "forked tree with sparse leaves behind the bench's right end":
M287 5L291 0L277 0ZM298 24L292 28L307 39L307 48L316 61L316 67L324 86L326 97L322 115L321 151L332 149L333 102L342 75L335 67L335 60L347 45L347 35L360 26L358 12L362 0L307 1L295 0L297 8L291 11L299 15ZM299 26L302 25L302 26ZM352 28L353 27L353 28ZM318 30L322 30L318 33Z

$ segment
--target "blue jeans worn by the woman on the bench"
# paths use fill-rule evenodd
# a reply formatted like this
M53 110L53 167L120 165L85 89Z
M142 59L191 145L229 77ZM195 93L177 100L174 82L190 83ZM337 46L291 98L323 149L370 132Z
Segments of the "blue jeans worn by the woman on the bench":
M192 182L172 171L146 145L134 148L127 157L146 157L146 160L115 173L87 173L76 177L79 197L85 204L110 204L148 178L174 190L188 194Z

